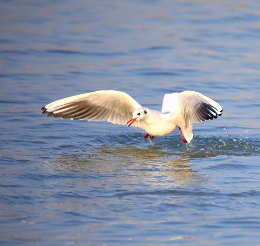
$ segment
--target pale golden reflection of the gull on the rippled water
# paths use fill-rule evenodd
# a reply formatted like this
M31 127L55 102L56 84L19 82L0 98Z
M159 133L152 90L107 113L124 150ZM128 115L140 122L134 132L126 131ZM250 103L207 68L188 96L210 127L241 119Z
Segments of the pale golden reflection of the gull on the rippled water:
M83 150L83 152L85 152ZM96 173L98 177L113 178L111 173L117 172L117 179L124 183L127 175L144 183L159 183L160 180L176 186L189 185L206 179L198 174L190 165L189 158L183 154L175 155L154 148L136 148L131 146L110 148L103 146L95 153L67 153L54 156L45 166L51 170L76 170L86 175ZM99 180L100 184L104 180ZM98 182L98 181L97 181ZM171 182L172 185L172 182Z

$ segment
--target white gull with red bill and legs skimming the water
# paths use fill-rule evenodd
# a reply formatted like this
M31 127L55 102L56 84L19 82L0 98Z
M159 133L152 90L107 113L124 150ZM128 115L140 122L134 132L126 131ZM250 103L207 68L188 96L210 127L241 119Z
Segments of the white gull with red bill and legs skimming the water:
M142 107L127 93L114 90L63 98L41 110L43 114L63 119L108 121L138 127L144 129L147 132L144 137L151 140L154 136L167 135L178 127L181 141L185 144L193 139L193 124L217 118L223 111L215 100L195 91L165 94L160 112Z

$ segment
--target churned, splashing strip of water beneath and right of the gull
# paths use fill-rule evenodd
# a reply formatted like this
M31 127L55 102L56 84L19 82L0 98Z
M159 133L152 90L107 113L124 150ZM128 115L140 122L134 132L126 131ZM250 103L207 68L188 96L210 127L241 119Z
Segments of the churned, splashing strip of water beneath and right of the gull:
M129 138L134 142L129 142ZM168 135L165 137L157 137L153 141L150 139L144 141L140 134L133 133L120 134L118 136L109 137L110 142L115 146L127 145L136 148L147 149L152 147L154 150L170 152L171 154L185 154L191 158L209 158L218 155L234 155L234 156L254 156L260 154L260 140L253 136L195 136L191 143L183 144L179 136ZM147 145L148 142L148 145Z

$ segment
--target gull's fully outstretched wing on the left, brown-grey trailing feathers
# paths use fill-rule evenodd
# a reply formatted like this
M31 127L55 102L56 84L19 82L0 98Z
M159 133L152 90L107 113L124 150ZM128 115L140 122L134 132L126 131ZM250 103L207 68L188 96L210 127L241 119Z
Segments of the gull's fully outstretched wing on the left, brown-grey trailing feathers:
M63 98L42 108L43 114L63 119L108 121L125 125L141 105L128 94L120 91L95 91ZM132 124L143 128L141 121Z

